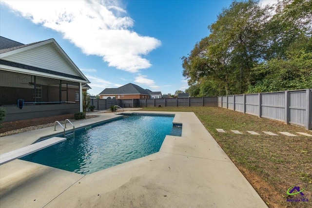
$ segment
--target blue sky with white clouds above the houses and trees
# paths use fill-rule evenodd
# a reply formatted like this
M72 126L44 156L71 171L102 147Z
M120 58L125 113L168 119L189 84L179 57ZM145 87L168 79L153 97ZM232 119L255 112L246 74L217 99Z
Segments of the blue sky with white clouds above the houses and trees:
M188 88L181 57L231 2L0 0L0 36L24 44L54 38L91 81L91 95L130 82L174 94Z

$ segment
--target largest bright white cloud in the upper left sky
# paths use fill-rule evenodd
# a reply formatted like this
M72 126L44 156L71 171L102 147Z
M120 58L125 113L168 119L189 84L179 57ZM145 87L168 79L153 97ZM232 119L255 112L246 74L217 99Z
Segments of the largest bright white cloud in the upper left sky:
M120 1L1 0L36 24L55 30L86 55L102 57L109 66L135 73L151 63L146 58L160 46L156 38L140 36L131 27Z

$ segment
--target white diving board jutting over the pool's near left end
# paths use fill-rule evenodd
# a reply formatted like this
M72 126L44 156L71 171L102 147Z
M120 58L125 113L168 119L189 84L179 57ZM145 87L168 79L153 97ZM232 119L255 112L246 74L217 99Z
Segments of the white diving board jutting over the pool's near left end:
M0 165L3 165L5 163L8 163L12 160L19 159L23 156L26 156L28 154L31 154L35 151L42 150L44 148L50 147L52 145L55 145L59 142L65 141L66 138L61 137L52 137L50 139L43 140L41 142L37 142L31 145L28 145L26 147L22 147L20 149L9 151L3 154L0 154Z

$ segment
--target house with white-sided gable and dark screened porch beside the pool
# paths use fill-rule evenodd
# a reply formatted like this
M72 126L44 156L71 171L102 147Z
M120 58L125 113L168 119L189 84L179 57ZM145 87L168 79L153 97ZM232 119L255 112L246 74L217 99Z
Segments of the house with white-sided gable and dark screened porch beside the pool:
M55 39L22 44L0 37L4 122L35 119L39 123L38 118L81 112L82 90L90 89L87 83Z

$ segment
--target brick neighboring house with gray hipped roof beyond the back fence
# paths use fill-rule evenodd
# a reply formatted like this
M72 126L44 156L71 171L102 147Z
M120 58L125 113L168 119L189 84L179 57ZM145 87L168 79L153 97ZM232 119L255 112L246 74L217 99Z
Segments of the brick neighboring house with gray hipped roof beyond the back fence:
M153 95L151 95L151 93ZM144 90L136 84L126 84L118 88L105 88L100 94L100 99L106 99L108 97L116 99L140 99L140 98L152 98L152 96L159 96L161 92L152 92L150 90Z

